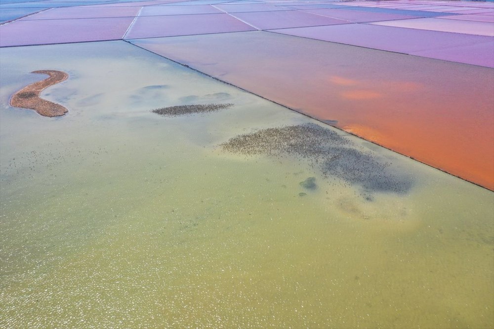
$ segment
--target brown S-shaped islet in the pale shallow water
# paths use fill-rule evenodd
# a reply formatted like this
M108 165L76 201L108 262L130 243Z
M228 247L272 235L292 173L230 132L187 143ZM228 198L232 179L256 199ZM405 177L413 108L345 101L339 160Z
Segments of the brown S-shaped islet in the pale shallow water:
M32 73L48 74L49 77L44 80L31 83L16 92L10 99L10 105L15 108L35 110L43 116L50 117L60 116L67 113L68 110L60 104L40 98L40 93L49 86L67 79L69 74L55 70L33 71Z

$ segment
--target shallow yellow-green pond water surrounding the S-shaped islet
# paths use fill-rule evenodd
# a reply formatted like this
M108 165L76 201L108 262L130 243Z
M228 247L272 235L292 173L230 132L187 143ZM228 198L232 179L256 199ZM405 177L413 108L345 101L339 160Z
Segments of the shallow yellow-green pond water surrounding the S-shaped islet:
M493 192L124 41L1 57L0 327L493 327ZM43 69L64 117L8 106Z

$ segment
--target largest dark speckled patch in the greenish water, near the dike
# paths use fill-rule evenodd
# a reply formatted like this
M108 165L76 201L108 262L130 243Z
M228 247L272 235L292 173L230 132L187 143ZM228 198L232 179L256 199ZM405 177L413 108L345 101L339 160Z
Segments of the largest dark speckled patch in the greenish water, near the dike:
M221 144L225 151L245 155L292 156L307 161L325 177L358 184L364 192L407 193L413 178L401 168L355 145L335 131L314 123L267 128L239 135ZM315 180L302 182L315 186Z

